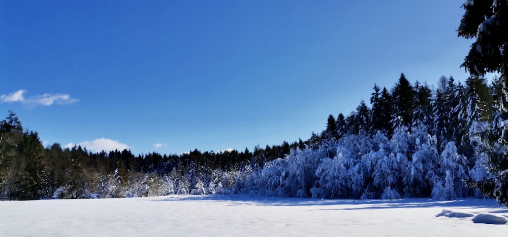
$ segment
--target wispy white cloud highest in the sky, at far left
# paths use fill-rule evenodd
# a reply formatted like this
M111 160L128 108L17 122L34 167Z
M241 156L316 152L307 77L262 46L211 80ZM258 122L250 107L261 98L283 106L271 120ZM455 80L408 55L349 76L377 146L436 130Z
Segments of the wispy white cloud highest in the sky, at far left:
M78 101L78 99L71 98L68 94L43 94L26 98L24 96L25 94L26 90L19 90L8 95L0 95L0 102L21 102L29 107L35 107L38 105L49 106L52 104L72 104Z

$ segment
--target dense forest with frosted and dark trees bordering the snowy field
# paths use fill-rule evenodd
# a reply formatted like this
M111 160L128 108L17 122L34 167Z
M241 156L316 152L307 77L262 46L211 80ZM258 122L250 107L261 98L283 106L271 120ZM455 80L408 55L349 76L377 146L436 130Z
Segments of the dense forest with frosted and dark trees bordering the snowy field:
M497 77L465 83L442 76L437 87L402 73L390 90L372 88L348 115L329 115L310 138L253 151L198 149L182 154L85 147L43 147L9 111L0 124L0 197L124 198L167 194L237 194L312 198L450 200L482 198L467 180L491 178L487 142L501 137Z

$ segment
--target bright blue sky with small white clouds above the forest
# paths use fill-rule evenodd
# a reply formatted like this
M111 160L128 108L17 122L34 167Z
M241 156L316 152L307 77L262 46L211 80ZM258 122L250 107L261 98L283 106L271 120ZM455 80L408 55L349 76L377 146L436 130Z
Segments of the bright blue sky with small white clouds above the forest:
M464 81L463 2L1 1L0 111L92 151L305 140L401 72Z

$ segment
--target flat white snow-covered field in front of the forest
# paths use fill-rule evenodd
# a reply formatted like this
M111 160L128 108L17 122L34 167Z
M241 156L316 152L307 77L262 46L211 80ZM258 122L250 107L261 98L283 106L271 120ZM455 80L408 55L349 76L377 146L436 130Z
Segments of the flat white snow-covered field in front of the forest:
M442 212L443 209L449 210ZM315 200L250 196L0 202L0 236L506 236L493 200ZM467 215L471 213L472 215ZM469 216L469 217L450 217Z

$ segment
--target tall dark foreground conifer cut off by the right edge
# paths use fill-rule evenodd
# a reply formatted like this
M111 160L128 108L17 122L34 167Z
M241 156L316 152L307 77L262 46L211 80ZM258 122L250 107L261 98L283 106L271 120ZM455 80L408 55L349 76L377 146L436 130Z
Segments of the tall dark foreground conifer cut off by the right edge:
M465 13L460 21L458 36L476 38L462 66L472 75L487 72L500 73L502 85L501 111L506 111L508 101L508 1L507 0L468 0L463 5ZM508 134L504 126L503 134ZM508 135L507 135L508 136ZM505 144L503 137L500 140ZM492 141L491 141L492 142ZM495 198L500 204L508 206L508 153L491 146L487 168L495 175L491 179L469 182L485 194Z

